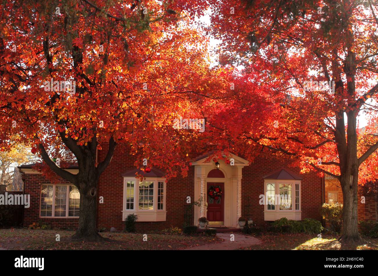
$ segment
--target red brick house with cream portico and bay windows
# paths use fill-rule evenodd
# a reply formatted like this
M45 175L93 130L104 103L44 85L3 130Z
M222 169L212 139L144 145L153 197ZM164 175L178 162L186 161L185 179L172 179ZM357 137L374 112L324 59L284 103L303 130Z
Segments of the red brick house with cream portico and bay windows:
M105 157L107 148L98 151L98 160ZM250 218L264 227L271 221L287 217L301 220L321 220L319 207L325 202L324 178L316 172L299 174L289 159L277 159L261 153L254 162L232 154L234 165L219 162L219 168L208 161L208 153L192 153L188 175L168 181L157 168L142 174L144 181L135 178L138 169L133 165L140 156L127 150L115 151L112 161L102 173L98 184L98 228L124 229L128 214L137 214L137 229L152 231L178 226L182 228L188 196L199 198L191 221L207 217L209 225L235 228L239 217ZM25 181L25 193L31 195L31 206L25 209L24 225L42 220L54 227L74 228L78 224L80 195L75 186L59 179L57 184L33 170L33 165L19 167ZM75 166L67 168L77 173ZM222 191L220 198L209 195L211 189ZM274 195L287 196L284 203ZM264 202L262 202L264 200ZM271 201L271 204L268 204ZM265 203L265 204L262 204Z

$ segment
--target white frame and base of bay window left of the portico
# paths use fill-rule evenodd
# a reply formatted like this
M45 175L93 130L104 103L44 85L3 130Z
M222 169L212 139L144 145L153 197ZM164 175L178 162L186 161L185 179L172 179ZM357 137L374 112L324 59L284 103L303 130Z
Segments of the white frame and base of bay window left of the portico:
M134 181L134 209L126 210L126 183L127 181ZM153 181L153 209L152 210L139 210L139 183L143 181ZM167 182L165 178L146 177L143 181L139 181L137 178L124 177L123 179L123 208L122 208L122 220L129 214L138 215L137 221L166 221L166 208L167 208ZM164 182L163 189L163 209L158 210L158 182Z

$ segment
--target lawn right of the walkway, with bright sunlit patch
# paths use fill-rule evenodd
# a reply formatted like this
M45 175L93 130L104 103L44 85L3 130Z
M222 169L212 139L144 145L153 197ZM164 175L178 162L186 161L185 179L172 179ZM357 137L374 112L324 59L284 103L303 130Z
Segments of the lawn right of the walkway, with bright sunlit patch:
M257 237L262 241L259 245L249 246L251 250L378 250L378 239L364 238L364 245L342 245L332 234L262 234Z

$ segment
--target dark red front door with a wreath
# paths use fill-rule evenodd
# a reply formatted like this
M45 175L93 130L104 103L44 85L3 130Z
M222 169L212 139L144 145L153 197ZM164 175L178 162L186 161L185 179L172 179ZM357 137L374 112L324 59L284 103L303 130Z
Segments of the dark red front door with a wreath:
M207 184L207 203L208 203L208 212L207 212L207 218L209 221L209 224L219 224L223 225L223 213L224 213L224 202L225 202L225 189L224 189L224 183L218 183L218 182L209 182ZM211 190L217 190L219 189L222 193L218 198L216 196L210 195L209 192ZM211 223L213 222L213 223ZM216 223L214 223L216 222Z

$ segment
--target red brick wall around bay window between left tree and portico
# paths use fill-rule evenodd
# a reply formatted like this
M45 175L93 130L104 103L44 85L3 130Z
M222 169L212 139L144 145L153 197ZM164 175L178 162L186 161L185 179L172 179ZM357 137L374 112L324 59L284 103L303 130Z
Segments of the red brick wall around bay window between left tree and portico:
M99 151L99 161L106 154L106 148ZM127 148L119 149L114 153L113 159L102 173L98 196L104 196L104 204L98 204L98 227L115 227L124 229L122 221L123 207L123 177L122 173L135 168L134 162L142 156L130 155ZM186 178L177 177L170 179L166 187L166 221L138 222L137 230L152 231L179 226L184 222L184 204L186 197L194 198L194 168L190 168Z

